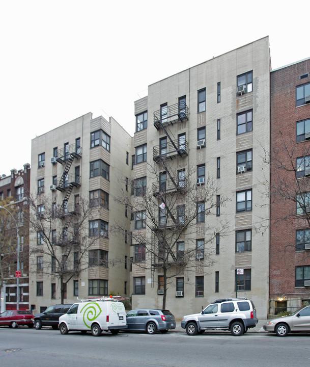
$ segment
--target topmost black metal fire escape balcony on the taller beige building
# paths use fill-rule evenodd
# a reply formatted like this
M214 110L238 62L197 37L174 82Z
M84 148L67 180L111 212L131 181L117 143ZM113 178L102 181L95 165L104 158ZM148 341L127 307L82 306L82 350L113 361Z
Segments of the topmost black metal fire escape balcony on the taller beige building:
M161 110L154 112L154 126L157 130L160 129L160 124L173 125L186 120L188 120L188 107L184 102L167 106L167 114L164 116L161 116Z

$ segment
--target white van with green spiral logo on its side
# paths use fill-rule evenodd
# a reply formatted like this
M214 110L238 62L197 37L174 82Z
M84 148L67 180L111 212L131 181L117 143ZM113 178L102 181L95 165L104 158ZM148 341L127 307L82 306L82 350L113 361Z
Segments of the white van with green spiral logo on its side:
M104 331L117 334L127 329L124 304L111 298L89 299L74 303L69 311L59 318L61 334L79 330L82 333L91 331L99 336Z

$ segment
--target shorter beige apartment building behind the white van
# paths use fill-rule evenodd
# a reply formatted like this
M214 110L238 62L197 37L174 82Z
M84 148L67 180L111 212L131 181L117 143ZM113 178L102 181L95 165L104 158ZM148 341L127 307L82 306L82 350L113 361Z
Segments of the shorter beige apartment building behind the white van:
M115 198L130 177L131 144L113 118L91 113L33 139L32 310L109 292L130 295L130 222ZM111 230L115 222L123 232Z

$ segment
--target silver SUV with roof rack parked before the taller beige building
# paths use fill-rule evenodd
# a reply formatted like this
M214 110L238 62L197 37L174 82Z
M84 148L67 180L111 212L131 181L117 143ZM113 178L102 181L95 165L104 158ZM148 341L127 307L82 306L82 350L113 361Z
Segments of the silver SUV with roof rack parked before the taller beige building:
M247 298L219 299L199 313L184 316L181 327L188 335L205 330L230 330L234 336L244 334L258 323L256 308Z

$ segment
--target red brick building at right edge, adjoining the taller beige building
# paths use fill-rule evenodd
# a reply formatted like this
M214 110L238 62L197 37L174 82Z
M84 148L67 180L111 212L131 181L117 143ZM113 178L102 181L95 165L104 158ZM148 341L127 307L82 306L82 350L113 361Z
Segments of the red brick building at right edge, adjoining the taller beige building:
M310 58L271 71L269 314L310 300Z

